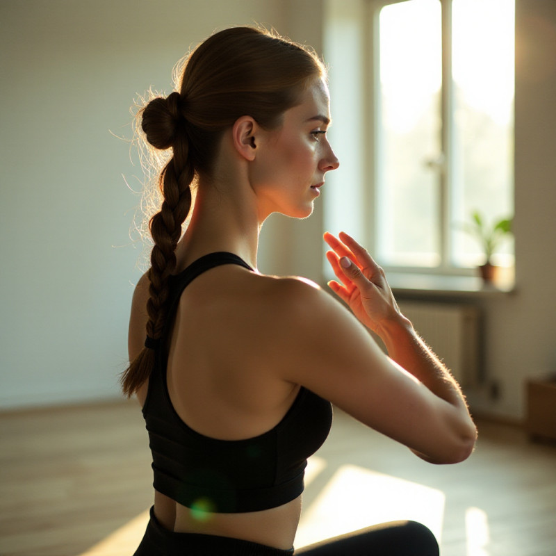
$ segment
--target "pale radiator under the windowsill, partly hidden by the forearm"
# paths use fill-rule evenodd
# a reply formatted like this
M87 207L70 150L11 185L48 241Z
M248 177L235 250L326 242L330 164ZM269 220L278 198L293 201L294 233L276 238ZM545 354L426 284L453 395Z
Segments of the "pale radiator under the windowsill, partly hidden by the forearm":
M461 386L480 384L481 333L478 307L404 300L398 305Z

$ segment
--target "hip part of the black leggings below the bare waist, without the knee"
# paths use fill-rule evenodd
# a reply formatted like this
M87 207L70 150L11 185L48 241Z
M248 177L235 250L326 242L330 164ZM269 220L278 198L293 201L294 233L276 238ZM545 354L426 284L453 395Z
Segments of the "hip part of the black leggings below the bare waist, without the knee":
M145 537L135 556L293 556L293 548L272 546L201 533L174 533L163 528L151 508Z

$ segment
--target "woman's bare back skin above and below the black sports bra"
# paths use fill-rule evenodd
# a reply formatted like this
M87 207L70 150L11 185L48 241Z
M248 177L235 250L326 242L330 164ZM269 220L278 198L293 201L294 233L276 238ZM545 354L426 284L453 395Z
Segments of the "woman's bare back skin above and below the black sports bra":
M272 303L277 280L224 265L208 270L183 291L170 334L167 387L177 414L196 432L221 440L259 436L275 427L295 401L300 386L280 379L268 354L261 352L265 342L259 336L272 328L265 322L272 308L265 307L264 300ZM138 309L145 306L142 296L136 297ZM137 330L140 345L145 325L137 320L130 332ZM141 405L147 390L148 382L138 391ZM300 518L301 497L260 512L214 514L155 491L154 512L175 532L288 549Z

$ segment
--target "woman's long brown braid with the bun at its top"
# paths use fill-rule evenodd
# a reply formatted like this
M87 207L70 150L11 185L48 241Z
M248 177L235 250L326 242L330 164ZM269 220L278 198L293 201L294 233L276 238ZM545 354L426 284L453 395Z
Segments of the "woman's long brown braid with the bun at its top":
M147 344L156 346L163 333L167 314L168 277L176 268L175 250L181 237L181 225L186 220L191 207L190 184L195 177L195 169L190 162L189 139L186 121L181 113L179 93L172 92L167 99L154 99L145 107L142 128L147 140L158 149L173 147L173 156L161 172L159 186L163 193L161 210L149 222L149 229L154 240L151 253L149 278L149 300L147 302ZM162 117L161 117L162 116ZM165 127L161 133L158 122L167 124L164 118L172 122L172 127ZM170 133L168 130L171 129ZM150 342L150 343L149 343ZM132 395L145 380L149 378L154 366L155 351L145 347L138 357L131 362L122 375L124 394Z

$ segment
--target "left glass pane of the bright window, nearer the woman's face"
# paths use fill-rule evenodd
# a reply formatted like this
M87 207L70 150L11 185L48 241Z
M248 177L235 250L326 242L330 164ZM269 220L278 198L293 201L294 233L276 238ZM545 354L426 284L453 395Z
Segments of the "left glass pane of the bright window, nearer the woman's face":
M386 265L440 263L441 5L411 0L379 15L377 256Z

